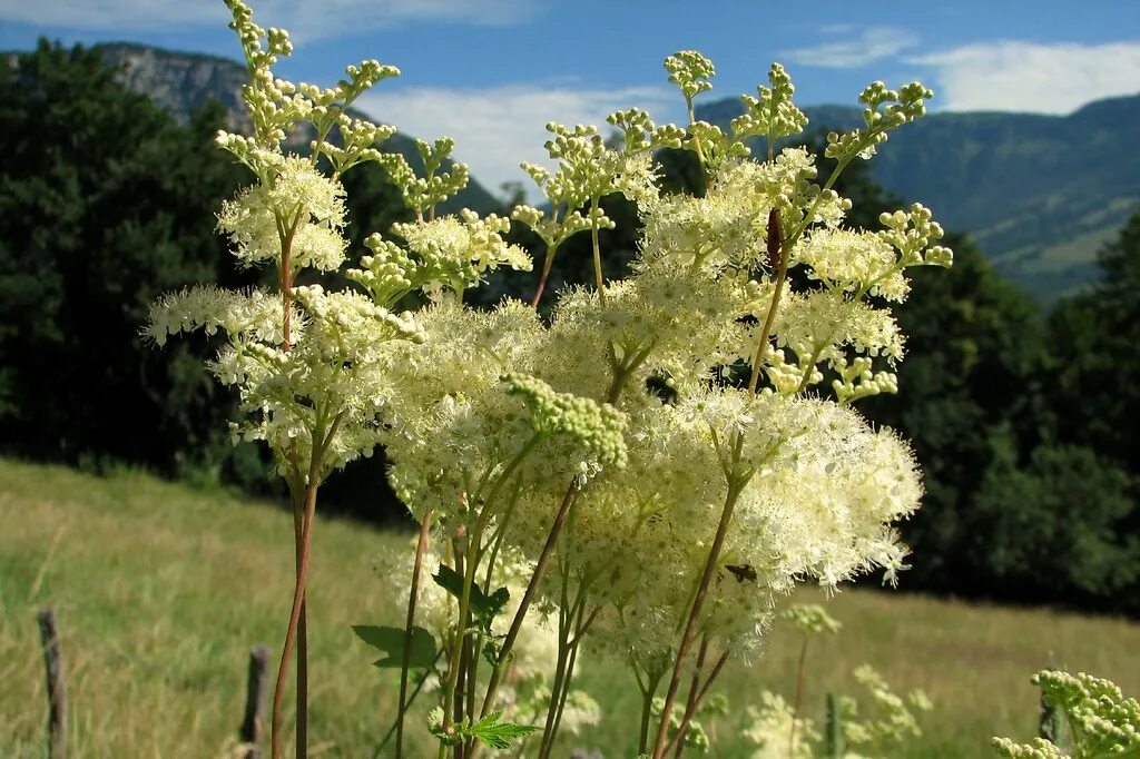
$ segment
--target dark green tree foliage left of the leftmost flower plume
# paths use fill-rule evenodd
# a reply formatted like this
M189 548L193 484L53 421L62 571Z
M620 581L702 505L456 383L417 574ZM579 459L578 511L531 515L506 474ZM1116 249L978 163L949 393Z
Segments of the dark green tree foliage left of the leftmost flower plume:
M209 228L237 181L209 146L219 113L180 126L98 52L46 41L0 68L0 444L256 481L256 452L222 434L233 400L203 382L203 346L160 359L139 335L163 291L252 281Z

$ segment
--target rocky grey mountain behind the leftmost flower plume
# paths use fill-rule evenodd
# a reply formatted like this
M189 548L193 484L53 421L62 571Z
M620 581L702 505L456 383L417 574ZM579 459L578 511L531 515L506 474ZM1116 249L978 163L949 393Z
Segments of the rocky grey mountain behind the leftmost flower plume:
M111 42L95 46L104 60L122 70L123 83L136 92L144 92L187 122L195 108L210 100L218 100L229 113L230 124L237 131L249 131L250 121L242 103L242 84L246 82L245 66L218 56L176 52L145 44ZM384 121L384 114L363 114L349 109L357 117ZM385 145L386 150L402 153L413 166L420 168L414 137L397 133ZM303 140L307 141L308 137ZM450 165L450 163L448 163ZM474 178L466 189L443 204L445 211L467 207L479 213L498 211L502 203Z

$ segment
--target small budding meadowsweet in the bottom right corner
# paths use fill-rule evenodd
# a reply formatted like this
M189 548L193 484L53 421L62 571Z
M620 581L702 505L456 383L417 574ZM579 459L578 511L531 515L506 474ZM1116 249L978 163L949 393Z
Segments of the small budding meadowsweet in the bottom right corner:
M993 746L1009 759L1094 759L1097 757L1140 756L1140 704L1125 699L1109 680L1084 672L1070 675L1043 670L1033 676L1045 703L1061 711L1072 743L1062 749L1043 737L1018 744L1005 737L993 738Z

